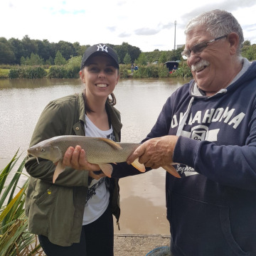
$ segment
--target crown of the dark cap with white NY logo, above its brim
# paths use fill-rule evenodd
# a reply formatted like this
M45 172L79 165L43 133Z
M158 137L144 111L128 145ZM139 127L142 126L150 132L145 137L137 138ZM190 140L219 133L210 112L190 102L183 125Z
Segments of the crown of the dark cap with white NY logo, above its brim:
M85 67L88 58L90 58L92 54L96 53L110 56L110 58L114 60L114 67L119 69L117 53L110 46L107 46L105 43L98 43L97 45L90 46L85 50L85 53L82 55L82 62L80 68L81 70Z

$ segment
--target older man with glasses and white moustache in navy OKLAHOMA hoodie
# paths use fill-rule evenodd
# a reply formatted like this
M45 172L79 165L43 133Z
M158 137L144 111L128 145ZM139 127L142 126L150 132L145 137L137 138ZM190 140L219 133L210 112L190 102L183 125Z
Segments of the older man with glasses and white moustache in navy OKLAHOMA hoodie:
M166 173L174 256L256 255L256 62L241 57L243 41L227 11L188 23L182 55L194 79L127 159L150 169L176 163L181 178ZM112 177L137 173L122 163Z

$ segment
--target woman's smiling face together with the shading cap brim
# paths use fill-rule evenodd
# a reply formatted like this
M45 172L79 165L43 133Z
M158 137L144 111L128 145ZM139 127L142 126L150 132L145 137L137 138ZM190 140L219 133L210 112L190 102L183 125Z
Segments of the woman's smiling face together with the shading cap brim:
M87 97L107 100L117 85L119 73L112 58L106 55L92 55L85 68L80 71L80 78L85 83Z

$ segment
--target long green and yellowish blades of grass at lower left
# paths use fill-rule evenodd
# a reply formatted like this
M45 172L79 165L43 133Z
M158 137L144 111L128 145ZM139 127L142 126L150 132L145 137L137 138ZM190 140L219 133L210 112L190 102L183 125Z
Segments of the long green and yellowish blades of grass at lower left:
M18 186L21 175L26 175L22 172L26 159L16 166L19 157L16 151L0 173L0 252L1 256L43 255L36 235L28 232L24 209L28 179L21 187ZM14 172L16 167L17 171Z

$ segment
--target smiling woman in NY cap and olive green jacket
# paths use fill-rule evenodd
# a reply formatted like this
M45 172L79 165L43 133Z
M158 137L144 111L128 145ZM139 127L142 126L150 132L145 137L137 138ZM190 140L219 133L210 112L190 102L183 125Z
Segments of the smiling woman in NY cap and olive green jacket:
M50 102L36 124L31 146L50 137L85 135L119 142L120 114L114 87L119 80L117 53L98 44L85 50L80 78L85 90ZM110 100L109 95L112 96ZM34 157L26 161L31 175L26 195L28 230L38 234L46 255L112 256L113 218L119 220L118 180L85 171L76 157L80 146L70 148L68 167L53 184L53 162ZM65 159L67 161L67 159ZM75 163L75 164L74 164Z

